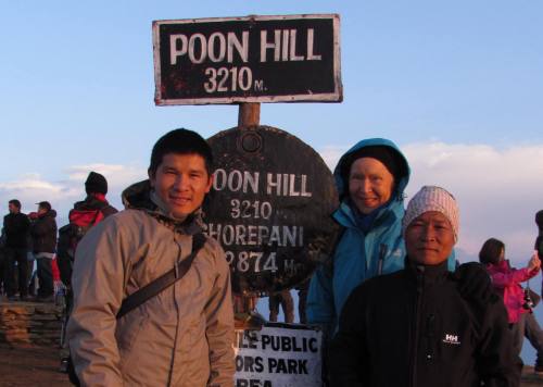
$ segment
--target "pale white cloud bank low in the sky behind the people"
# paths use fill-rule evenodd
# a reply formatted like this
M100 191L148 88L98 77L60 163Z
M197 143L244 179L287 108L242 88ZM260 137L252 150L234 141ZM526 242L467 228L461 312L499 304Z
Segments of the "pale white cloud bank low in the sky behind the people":
M349 148L327 147L318 151L333 170ZM401 149L412 168L408 197L424 185L439 185L457 198L460 261L477 260L482 242L496 237L506 244L506 255L512 261L525 264L536 236L534 214L543 209L543 145L496 149L488 145L428 141L406 143ZM0 200L7 203L17 198L25 212L35 211L34 203L49 200L63 224L74 201L85 196L84 182L90 171L108 178L108 198L118 208L122 190L147 176L146 168L137 165L73 165L63 171L65 177L60 180L25 174L17 180L0 182Z

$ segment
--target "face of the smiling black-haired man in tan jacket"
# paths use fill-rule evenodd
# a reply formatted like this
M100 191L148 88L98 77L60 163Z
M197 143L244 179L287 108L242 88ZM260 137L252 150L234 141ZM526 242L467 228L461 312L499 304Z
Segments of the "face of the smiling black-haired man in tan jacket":
M166 210L177 219L186 217L202 205L213 182L204 159L195 153L165 154L149 178Z

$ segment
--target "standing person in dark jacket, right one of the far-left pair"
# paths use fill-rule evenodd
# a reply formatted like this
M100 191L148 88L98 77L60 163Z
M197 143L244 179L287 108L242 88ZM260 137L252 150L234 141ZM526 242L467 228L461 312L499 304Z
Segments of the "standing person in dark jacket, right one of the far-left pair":
M38 203L38 212L33 216L30 236L33 239L33 252L37 262L38 271L38 297L37 301L54 301L52 260L56 248L56 211L51 209L48 201Z

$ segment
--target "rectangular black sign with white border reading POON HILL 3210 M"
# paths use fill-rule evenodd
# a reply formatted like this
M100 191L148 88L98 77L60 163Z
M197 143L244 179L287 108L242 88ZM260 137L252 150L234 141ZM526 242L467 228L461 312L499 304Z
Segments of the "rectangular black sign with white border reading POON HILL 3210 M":
M157 105L343 100L338 14L154 21L152 28Z

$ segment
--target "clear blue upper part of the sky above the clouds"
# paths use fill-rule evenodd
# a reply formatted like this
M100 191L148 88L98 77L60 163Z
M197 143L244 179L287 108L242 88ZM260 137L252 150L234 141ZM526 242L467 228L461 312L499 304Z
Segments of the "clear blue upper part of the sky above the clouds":
M47 133L46 142L54 145L92 133L109 137L102 149L62 154L125 163L140 161L172 127L210 135L231 127L235 107L154 107L151 22L315 12L341 15L344 102L266 104L263 123L315 148L362 136L501 148L543 142L542 11L538 1L10 2L0 16L0 124L16 130L4 138L2 153L21 142L36 153L43 140L29 141L29 134ZM49 159L49 174L63 164Z

